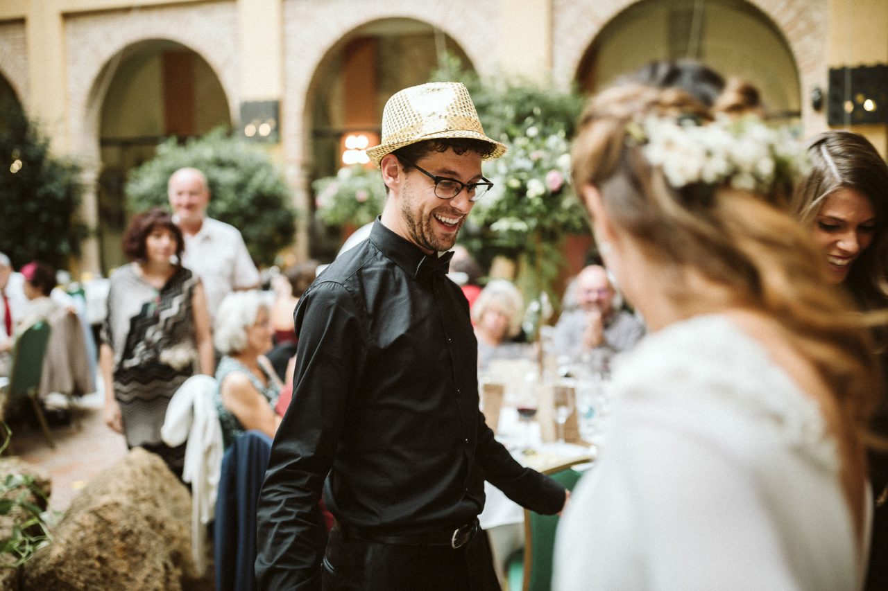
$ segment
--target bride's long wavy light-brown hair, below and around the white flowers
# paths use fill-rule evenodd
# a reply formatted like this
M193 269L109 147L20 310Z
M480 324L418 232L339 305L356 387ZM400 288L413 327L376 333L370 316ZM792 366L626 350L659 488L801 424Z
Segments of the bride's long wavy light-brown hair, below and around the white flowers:
M587 106L575 139L575 186L598 189L614 225L656 263L674 302L694 304L676 280L693 269L727 288L732 303L779 322L836 399L839 437L859 450L881 391L873 343L851 298L828 284L809 232L768 195L671 187L627 133L639 115L687 113L705 116L705 107L681 91L603 91ZM858 468L865 471L862 458Z

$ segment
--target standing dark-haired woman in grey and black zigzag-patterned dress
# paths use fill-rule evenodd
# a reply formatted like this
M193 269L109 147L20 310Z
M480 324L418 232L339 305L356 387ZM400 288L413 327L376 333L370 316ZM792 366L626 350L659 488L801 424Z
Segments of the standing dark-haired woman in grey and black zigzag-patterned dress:
M185 444L161 440L170 398L196 369L213 373L210 315L198 278L179 264L182 233L155 208L134 217L123 237L132 260L111 275L99 361L105 422L180 476Z

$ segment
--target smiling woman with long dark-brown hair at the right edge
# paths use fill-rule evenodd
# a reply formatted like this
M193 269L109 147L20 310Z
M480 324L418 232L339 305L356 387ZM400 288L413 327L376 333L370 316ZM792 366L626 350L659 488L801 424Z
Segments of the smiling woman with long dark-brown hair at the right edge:
M793 194L792 209L821 248L829 281L846 288L861 311L888 309L888 165L867 138L831 130L808 142L811 169ZM888 331L876 327L876 352L888 366ZM870 423L888 440L888 396ZM888 588L888 453L869 453L876 497L868 589Z

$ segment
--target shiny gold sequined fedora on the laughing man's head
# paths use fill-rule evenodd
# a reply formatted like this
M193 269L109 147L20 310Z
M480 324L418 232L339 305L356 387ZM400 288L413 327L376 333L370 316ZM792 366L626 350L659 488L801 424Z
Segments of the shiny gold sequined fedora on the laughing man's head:
M478 111L463 83L427 83L395 92L383 109L383 138L367 148L377 166L385 154L425 139L470 138L493 144L488 158L499 158L506 147L484 135Z

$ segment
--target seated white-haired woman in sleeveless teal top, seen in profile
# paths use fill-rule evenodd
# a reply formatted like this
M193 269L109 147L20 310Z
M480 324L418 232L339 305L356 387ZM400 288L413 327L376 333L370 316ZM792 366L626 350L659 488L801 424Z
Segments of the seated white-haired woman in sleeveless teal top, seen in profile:
M224 356L216 369L216 408L226 448L250 429L274 437L281 423L274 404L282 384L264 355L272 348L272 326L263 296L258 291L226 296L213 340Z

